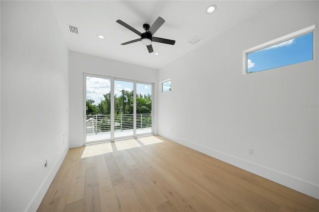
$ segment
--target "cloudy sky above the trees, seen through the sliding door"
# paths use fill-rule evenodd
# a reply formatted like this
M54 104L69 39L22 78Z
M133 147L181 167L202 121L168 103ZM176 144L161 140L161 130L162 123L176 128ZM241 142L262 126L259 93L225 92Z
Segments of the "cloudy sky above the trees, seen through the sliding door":
M132 82L114 81L114 93L120 97L122 90L131 92L133 90ZM152 95L152 85L136 84L137 93L142 95ZM99 77L86 77L86 99L94 100L94 105L99 105L101 99L104 100L103 94L111 91L111 80Z

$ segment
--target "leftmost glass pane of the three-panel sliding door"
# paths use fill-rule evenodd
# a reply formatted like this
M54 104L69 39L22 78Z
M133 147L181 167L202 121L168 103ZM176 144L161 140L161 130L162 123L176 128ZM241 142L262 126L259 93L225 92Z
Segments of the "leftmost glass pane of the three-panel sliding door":
M86 77L86 142L111 139L111 80Z

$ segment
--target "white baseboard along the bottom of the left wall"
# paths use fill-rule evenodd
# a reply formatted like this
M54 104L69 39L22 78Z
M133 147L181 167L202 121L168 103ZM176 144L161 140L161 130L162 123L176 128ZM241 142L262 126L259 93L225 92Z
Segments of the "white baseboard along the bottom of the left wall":
M36 210L39 208L39 206L42 202L42 199L44 198L47 190L49 189L49 187L50 187L56 173L58 172L68 150L69 149L65 149L63 151L63 153L61 154L61 156L58 158L58 160L54 164L53 168L51 169L50 173L48 174L48 176L46 177L46 179L43 181L42 185L40 186L39 190L34 195L31 203L26 208L26 210L25 210L26 212L36 212Z

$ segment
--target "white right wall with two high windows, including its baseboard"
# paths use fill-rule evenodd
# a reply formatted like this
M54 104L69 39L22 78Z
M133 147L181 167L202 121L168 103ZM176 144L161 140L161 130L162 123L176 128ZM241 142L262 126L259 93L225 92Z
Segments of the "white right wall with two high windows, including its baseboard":
M242 74L243 50L313 24L313 61ZM160 69L159 134L319 198L318 24L319 1L281 1Z

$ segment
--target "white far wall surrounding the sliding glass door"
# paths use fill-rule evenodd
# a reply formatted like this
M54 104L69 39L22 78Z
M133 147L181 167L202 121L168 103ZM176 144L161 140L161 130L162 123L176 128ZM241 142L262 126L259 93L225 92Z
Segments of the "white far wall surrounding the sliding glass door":
M84 142L84 101L83 73L98 74L110 77L137 80L142 82L155 83L154 94L157 93L157 70L142 66L123 63L106 58L70 51L69 68L69 95L70 95L70 148L79 147ZM157 98L153 97L154 108L157 111ZM154 118L157 118L156 112ZM156 122L153 126L155 133Z

